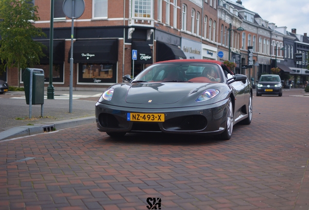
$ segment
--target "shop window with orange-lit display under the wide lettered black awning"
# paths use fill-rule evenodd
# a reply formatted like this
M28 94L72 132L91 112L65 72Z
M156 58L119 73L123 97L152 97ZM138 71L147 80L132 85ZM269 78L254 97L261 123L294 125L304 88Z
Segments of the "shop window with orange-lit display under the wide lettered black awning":
M79 83L115 83L116 64L80 64Z

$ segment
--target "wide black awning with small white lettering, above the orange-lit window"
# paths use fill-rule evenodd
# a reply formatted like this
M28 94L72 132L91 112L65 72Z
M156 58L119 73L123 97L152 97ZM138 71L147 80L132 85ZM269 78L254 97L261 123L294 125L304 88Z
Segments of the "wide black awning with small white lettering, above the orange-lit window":
M68 62L71 57L69 50ZM117 63L118 39L77 40L73 43L74 63Z

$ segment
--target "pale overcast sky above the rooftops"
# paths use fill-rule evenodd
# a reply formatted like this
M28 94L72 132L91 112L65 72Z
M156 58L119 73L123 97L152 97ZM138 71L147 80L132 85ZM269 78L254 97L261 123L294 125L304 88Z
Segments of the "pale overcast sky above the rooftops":
M232 0L236 2L237 0ZM296 33L309 36L309 0L241 0L242 5L258 15L275 23L277 27L286 26Z

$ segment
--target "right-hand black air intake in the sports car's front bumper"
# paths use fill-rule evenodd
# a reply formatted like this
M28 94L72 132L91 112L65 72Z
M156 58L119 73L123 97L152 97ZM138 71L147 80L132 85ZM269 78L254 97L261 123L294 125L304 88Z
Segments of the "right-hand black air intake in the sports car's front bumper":
M202 115L190 115L184 117L177 117L167 120L163 123L166 130L203 130L206 128L207 120Z

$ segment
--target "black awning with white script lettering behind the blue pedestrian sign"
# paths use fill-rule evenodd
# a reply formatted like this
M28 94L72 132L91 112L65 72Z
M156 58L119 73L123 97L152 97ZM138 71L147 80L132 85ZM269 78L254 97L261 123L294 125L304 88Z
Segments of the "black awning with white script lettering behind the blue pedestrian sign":
M134 61L135 64L153 63L153 53L150 50L149 44L145 41L132 40L132 50L137 50L137 60Z

